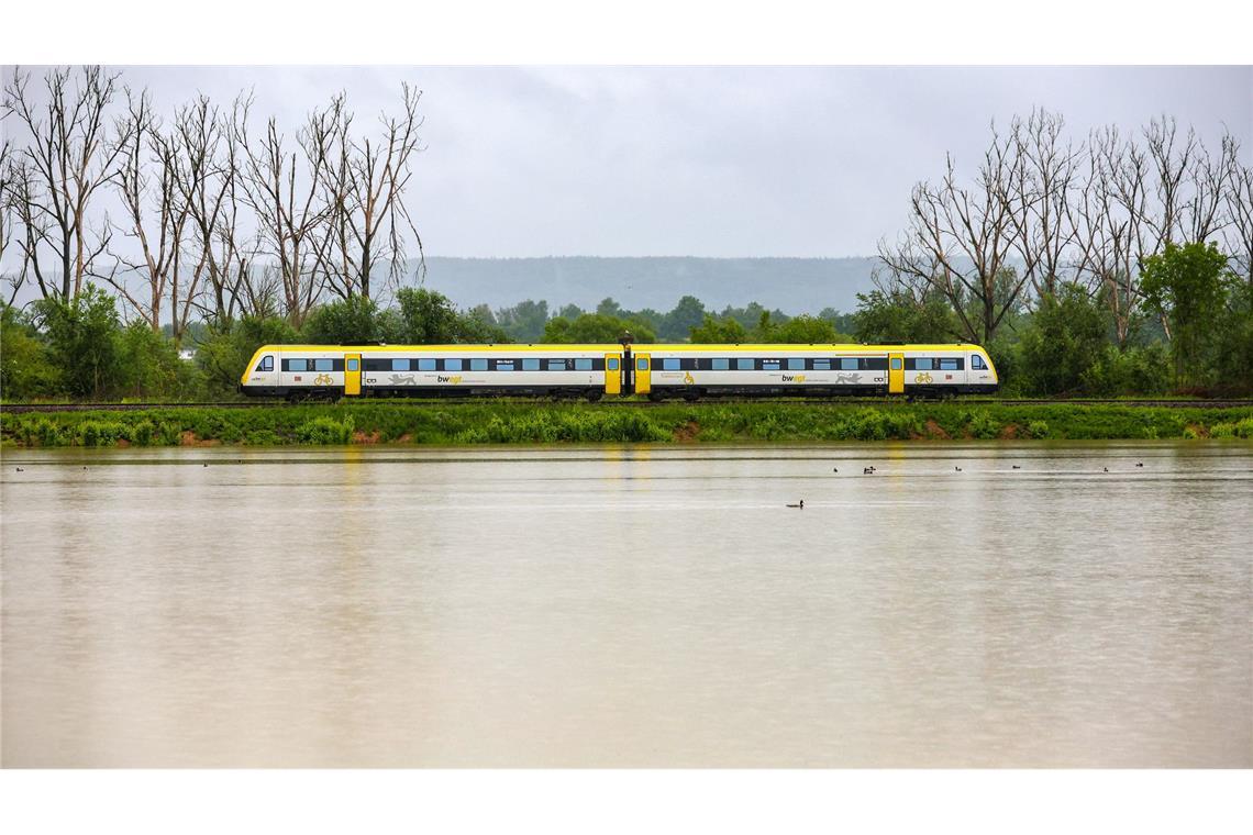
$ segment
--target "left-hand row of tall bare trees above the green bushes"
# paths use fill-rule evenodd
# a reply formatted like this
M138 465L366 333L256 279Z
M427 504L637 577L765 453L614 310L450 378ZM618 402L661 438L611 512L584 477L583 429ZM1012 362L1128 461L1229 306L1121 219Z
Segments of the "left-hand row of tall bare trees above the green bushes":
M0 146L0 257L20 263L5 300L34 284L71 303L94 282L180 339L202 319L299 327L325 298L396 288L421 270L406 203L420 100L403 84L393 111L363 123L338 93L286 134L249 91L163 119L118 71L18 69L0 94L21 139Z

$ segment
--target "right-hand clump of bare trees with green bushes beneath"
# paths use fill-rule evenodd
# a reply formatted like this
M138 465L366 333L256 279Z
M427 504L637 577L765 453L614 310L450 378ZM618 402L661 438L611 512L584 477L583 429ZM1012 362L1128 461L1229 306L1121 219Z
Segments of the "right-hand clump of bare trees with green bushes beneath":
M1247 160L1230 133L1207 146L1170 116L1083 141L1046 110L994 125L974 170L947 156L938 180L915 185L905 229L880 243L880 332L979 342L1045 393L1086 383L1056 377L1041 352L1138 366L1146 349L1170 356L1177 388L1248 391Z

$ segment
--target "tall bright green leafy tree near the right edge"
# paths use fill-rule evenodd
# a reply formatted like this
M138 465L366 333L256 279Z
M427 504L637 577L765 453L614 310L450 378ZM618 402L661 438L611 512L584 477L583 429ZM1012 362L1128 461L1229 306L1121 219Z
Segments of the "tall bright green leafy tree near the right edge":
M1237 280L1214 244L1168 243L1163 252L1144 259L1140 293L1144 307L1169 325L1178 386L1209 381L1205 361L1214 343L1214 324L1223 317Z

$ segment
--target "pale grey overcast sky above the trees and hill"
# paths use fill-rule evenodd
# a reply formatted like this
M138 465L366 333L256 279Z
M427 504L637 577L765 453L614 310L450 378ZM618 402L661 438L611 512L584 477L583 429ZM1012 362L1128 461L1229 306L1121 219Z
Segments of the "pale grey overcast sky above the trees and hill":
M5 70L10 74L11 68ZM424 90L412 185L432 255L858 255L946 150L1060 111L1076 139L1167 113L1253 151L1250 68L125 68L172 110L253 88L292 129L345 89L357 123ZM1215 143L1217 144L1217 143Z

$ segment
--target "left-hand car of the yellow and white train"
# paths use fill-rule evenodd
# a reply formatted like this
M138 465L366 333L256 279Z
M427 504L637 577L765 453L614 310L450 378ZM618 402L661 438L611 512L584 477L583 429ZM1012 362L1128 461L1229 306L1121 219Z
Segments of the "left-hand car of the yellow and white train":
M253 397L584 397L620 394L623 346L262 346Z

